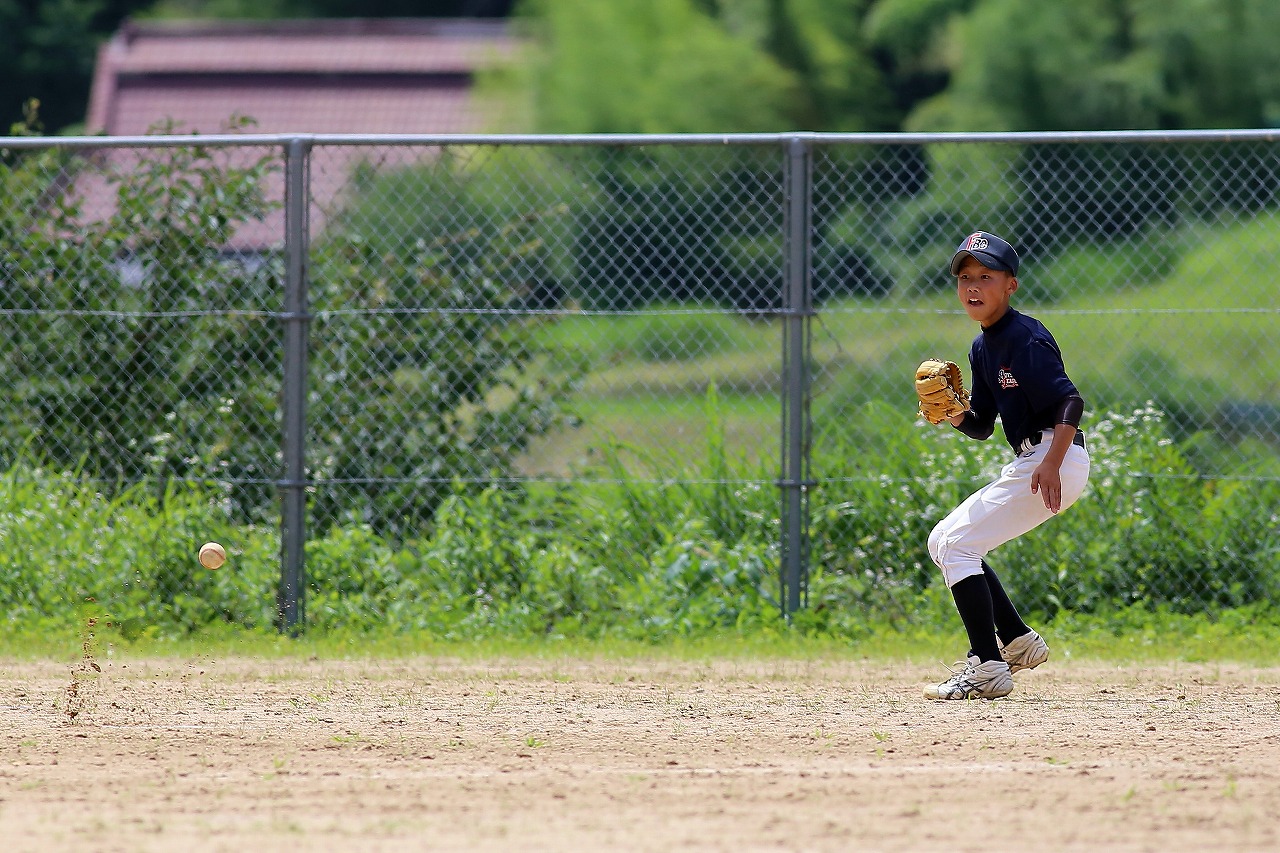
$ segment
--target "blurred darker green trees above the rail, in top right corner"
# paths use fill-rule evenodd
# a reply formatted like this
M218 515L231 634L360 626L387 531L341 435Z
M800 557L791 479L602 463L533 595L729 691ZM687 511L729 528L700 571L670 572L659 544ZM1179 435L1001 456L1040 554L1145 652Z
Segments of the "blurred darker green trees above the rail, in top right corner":
M1280 119L1277 37L1270 0L979 0L938 49L946 90L906 127L1265 127Z

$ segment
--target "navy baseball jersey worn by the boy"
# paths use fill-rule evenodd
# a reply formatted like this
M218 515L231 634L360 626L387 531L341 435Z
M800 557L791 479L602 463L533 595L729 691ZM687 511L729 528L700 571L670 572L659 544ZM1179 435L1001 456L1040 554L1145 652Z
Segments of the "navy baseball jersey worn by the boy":
M1015 451L1024 438L1053 428L1057 405L1065 397L1079 396L1057 341L1039 320L1014 309L974 338L969 366L969 409L975 425L989 435L1000 415Z

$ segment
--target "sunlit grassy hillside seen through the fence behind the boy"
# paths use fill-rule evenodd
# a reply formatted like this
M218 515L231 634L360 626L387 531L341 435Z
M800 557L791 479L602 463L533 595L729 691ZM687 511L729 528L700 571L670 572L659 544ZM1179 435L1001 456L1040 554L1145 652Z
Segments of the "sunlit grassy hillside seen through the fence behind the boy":
M1089 246L1023 272L1014 306L1048 324L1091 402L1089 418L1155 400L1210 429L1224 405L1277 398L1277 374L1249 365L1280 364L1274 283L1266 274L1280 260L1280 216L1197 238L1165 278L1152 282L1130 283L1137 250ZM1044 282L1060 295L1048 305L1038 293ZM765 466L777 459L780 327L714 307L663 310L570 316L541 332L544 343L582 353L590 375L572 403L581 425L535 442L522 462L526 471L564 474L611 441L648 452L696 448L710 387L730 450ZM819 437L870 401L914 411L905 378L919 359L943 352L963 361L974 333L950 291L823 305L813 334ZM820 439L814 452L826 452Z

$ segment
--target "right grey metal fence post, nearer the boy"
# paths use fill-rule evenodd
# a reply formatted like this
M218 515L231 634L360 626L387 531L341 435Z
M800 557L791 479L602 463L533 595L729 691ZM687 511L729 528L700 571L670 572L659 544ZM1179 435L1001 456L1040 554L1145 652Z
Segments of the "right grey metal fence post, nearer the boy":
M806 138L786 142L786 232L782 320L782 615L805 605L809 562L809 343L813 152Z

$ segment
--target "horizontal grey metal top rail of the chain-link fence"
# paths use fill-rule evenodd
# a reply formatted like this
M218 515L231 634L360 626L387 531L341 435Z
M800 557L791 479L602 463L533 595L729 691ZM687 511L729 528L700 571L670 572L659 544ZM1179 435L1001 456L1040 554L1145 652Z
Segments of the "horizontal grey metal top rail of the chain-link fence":
M1019 131L1005 133L179 133L154 136L0 136L0 149L287 145L936 145L1098 142L1277 142L1280 128L1203 131Z

